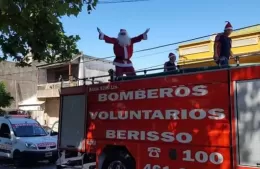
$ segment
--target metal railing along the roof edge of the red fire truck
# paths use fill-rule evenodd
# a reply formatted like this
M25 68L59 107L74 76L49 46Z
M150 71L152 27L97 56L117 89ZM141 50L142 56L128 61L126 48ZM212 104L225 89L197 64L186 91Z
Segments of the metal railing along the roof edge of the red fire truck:
M178 74L212 71L212 70L219 70L219 69L223 69L223 68L233 68L233 67L242 66L239 63L239 59L241 57L246 57L246 56L249 56L249 54L235 56L234 59L236 61L236 65L233 65L233 66L229 65L229 66L204 66L204 67L198 67L198 68L179 68L179 69L173 70L173 71L148 74L148 72L164 70L164 67L160 67L160 68L145 69L145 70L140 70L140 71L135 72L135 73L143 73L142 75L120 76L120 77L116 77L114 70L110 69L108 71L108 75L87 77L87 78L84 78L84 79L79 79L77 77L73 77L73 78L74 78L74 81L77 81L77 85L79 85L80 82L82 82L82 84L84 85L86 81L89 81L92 84L107 83L107 82L102 82L102 81L98 80L98 79L104 78L104 77L110 77L109 81L114 82L114 81L128 81L128 80L137 80L137 79L152 78L152 77L162 77L162 76L170 76L170 75L178 75ZM62 87L65 87L65 86L62 85Z

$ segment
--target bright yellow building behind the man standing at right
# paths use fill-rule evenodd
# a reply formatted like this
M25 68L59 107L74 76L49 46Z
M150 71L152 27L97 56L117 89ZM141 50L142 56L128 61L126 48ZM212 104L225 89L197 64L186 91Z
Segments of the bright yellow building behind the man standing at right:
M216 66L213 61L216 35L179 45L178 65L182 68ZM232 52L240 56L240 63L260 62L260 25L249 26L231 34ZM231 64L235 64L232 59Z

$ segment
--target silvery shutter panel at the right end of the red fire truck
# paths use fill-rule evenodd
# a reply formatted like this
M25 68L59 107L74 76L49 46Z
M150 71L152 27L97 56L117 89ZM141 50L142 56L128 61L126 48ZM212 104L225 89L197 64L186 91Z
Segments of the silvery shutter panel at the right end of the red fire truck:
M243 166L260 163L260 80L236 85L238 162Z

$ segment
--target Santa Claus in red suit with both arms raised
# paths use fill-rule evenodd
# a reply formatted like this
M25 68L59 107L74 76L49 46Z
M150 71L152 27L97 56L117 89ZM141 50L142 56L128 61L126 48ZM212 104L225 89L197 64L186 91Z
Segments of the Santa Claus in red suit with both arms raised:
M116 58L113 64L116 67L116 76L135 76L135 69L131 62L133 55L134 44L142 40L147 40L147 33L150 29L147 29L143 34L130 38L125 29L121 29L117 38L112 38L105 35L99 28L99 39L105 40L106 43L114 45L114 54Z

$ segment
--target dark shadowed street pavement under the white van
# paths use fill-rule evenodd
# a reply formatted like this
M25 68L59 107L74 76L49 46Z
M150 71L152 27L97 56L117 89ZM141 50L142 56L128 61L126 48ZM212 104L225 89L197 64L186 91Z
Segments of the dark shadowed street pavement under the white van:
M24 168L16 168L12 162L0 160L0 169L56 169L54 164L48 163L36 163L32 165L28 165L28 167Z

